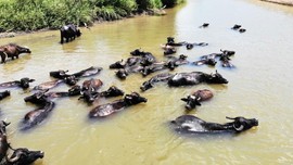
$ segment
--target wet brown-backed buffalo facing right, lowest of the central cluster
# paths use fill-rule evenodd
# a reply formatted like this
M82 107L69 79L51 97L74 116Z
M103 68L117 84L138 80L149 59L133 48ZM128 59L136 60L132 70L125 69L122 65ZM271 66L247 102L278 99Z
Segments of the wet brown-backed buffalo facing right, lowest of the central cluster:
M89 113L90 118L106 117L115 112L122 111L125 107L139 104L141 102L146 102L148 100L141 97L137 92L131 92L126 94L124 99L116 100L112 103L98 105L92 109Z

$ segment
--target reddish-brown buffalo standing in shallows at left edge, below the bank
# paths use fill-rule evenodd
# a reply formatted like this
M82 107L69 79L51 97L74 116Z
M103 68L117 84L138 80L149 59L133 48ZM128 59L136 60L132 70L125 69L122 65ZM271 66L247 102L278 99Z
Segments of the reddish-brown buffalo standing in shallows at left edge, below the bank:
M15 43L9 43L0 47L2 63L5 63L7 58L11 58L12 60L14 60L14 58L18 59L21 53L31 53L31 51L28 48L24 48Z

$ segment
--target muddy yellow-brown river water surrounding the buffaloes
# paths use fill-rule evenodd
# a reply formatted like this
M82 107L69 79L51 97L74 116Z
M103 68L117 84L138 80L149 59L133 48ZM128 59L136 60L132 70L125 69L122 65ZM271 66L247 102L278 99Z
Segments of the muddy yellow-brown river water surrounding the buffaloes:
M1 64L0 82L30 77L36 79L34 87L52 80L50 71L74 73L101 66L104 69L93 77L104 82L103 90L115 85L126 93L138 91L148 98L148 103L102 120L89 120L88 112L94 105L119 98L100 99L91 106L77 98L59 99L41 125L23 132L20 123L36 106L23 101L29 91L10 89L11 97L0 102L0 109L1 119L11 122L8 132L12 147L44 151L44 158L36 162L43 165L292 164L293 8L255 0L189 0L167 13L97 24L90 30L81 28L82 36L65 45L59 43L58 30L1 39L1 45L17 42L29 47L33 53ZM209 27L199 28L205 22ZM241 24L247 31L231 30L234 24ZM219 64L186 65L173 72L217 69L229 84L181 88L158 84L141 92L140 85L151 75L144 78L130 75L122 81L115 77L115 71L109 69L111 63L127 59L137 48L165 60L160 46L168 36L176 41L208 42L207 47L192 50L179 48L176 55L183 53L189 61L220 49L234 50L233 69ZM53 90L67 88L59 86ZM174 132L168 122L186 114L180 98L203 88L212 90L214 98L189 114L216 123L227 122L226 116L255 117L259 126L237 136Z

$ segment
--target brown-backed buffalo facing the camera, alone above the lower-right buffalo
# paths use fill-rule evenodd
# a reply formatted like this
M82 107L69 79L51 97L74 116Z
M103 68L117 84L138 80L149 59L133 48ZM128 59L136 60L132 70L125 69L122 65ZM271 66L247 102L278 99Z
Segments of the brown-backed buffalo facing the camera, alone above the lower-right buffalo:
M202 101L209 100L213 97L214 94L211 90L203 89L203 90L196 90L192 92L190 96L188 96L187 98L182 98L181 100L187 102L186 104L187 110L192 110L196 105L201 105Z

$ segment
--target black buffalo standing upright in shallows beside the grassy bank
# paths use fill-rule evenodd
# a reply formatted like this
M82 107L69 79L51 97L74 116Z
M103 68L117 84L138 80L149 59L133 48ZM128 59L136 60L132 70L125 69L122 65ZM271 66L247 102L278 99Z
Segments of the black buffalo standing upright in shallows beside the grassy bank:
M61 34L61 43L64 42L64 38L66 42L74 40L76 37L81 36L80 30L78 27L74 24L68 24L60 28L60 34Z

